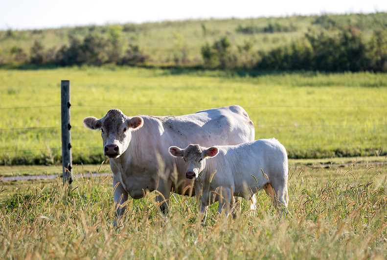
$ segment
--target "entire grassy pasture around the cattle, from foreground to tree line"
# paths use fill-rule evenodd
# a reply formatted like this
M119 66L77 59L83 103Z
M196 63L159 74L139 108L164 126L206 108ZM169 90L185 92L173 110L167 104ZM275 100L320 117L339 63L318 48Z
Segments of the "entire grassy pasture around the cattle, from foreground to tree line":
M83 176L70 187L60 178L0 182L1 259L387 255L386 74L0 70L1 176L44 172L59 177L60 80L71 83L73 173ZM243 200L235 219L219 219L215 203L205 225L194 198L172 195L164 218L156 194L150 193L128 200L115 227L112 178L88 175L109 172L108 165L98 166L106 160L100 133L86 129L83 118L103 117L111 108L126 115L182 115L231 104L249 113L256 139L275 137L288 150L286 218L278 217L263 191L255 212ZM341 158L350 155L355 157ZM84 165L88 162L98 165Z

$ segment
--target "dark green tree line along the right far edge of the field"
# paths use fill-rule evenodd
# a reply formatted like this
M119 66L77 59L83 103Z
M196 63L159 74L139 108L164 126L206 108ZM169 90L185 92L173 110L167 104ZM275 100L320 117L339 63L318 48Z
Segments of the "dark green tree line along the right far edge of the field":
M375 31L369 40L353 27L308 31L288 46L252 51L245 41L232 52L225 36L201 48L206 68L317 70L327 72L387 72L387 32Z

